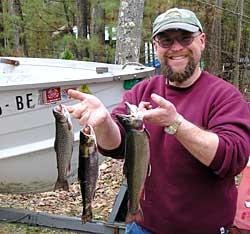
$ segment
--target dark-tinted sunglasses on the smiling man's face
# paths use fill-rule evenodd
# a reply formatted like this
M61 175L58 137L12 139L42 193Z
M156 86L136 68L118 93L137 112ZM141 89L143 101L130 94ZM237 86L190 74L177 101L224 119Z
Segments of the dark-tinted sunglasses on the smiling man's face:
M201 32L193 33L193 34L182 34L177 37L171 38L168 36L156 36L154 40L159 44L162 48L170 48L174 41L177 41L183 47L189 46L194 41L195 37L201 35Z

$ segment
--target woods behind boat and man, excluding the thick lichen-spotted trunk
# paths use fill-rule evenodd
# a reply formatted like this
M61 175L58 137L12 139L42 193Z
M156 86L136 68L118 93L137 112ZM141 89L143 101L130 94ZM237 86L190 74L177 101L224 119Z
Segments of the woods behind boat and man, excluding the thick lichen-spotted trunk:
M115 63L121 2L0 0L0 56ZM143 14L140 63L156 62L151 44L155 17L171 7L191 9L207 35L202 68L233 83L250 100L250 0L140 2L144 4L143 12L138 12Z

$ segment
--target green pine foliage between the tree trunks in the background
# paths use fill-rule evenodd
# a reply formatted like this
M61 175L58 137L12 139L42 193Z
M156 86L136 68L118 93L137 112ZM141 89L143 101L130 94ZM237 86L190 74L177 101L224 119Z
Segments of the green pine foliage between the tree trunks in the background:
M25 38L28 45L30 57L52 57L84 59L102 62L113 62L115 52L115 41L101 40L97 34L89 38L77 38L71 34L70 29L76 25L77 10L76 1L36 1L20 0L23 15L13 15L10 8L10 1L3 2L3 32L0 32L0 39L4 39L4 46L0 47L3 55L23 55L22 51L15 48L16 34ZM65 7L66 6L66 12ZM117 26L119 0L89 0L90 10L99 7L104 10L104 17L92 19L95 25L108 27L112 37L112 27ZM232 60L236 49L237 29L237 5L238 1L223 1L222 14L222 62ZM242 56L249 55L250 46L250 3L245 1L243 28L242 28ZM194 10L204 25L207 35L207 47L214 48L210 38L213 27L213 20L218 9L215 8L215 1L212 0L154 0L145 1L142 45L151 40L152 23L155 17L171 7L185 7ZM90 14L91 15L91 12ZM90 19L91 20L91 19ZM60 29L64 27L60 31ZM23 28L24 31L20 31ZM55 33L57 32L57 33ZM142 55L143 57L143 55ZM208 58L209 59L209 58ZM206 64L209 64L206 62Z

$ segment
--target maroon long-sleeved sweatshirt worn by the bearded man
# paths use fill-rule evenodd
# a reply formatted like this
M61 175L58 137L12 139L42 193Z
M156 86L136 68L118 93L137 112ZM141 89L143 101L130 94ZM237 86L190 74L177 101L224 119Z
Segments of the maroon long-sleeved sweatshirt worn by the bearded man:
M219 136L219 147L209 167L192 156L163 127L145 124L150 133L151 175L141 199L144 221L157 234L217 234L232 225L237 189L234 176L245 167L250 155L250 110L231 84L207 72L190 87L167 85L163 76L143 80L125 93L113 110L126 113L124 101L138 105L156 93L171 101L178 113L198 127ZM124 135L124 130L121 128ZM124 139L124 138L123 138ZM118 149L104 155L119 158Z

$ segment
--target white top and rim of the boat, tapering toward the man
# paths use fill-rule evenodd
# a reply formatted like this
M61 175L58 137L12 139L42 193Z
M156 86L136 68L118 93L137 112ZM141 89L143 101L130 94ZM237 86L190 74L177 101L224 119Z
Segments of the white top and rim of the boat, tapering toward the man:
M7 57L6 57L7 58ZM12 58L12 57L10 57ZM14 57L13 57L14 59ZM21 58L15 58L15 59L21 59ZM29 63L27 62L28 60ZM38 58L36 58L36 60L38 60ZM63 61L64 63L66 63L65 60L61 60L61 59L45 59L45 58L41 58L41 60L43 61ZM82 78L82 76L84 75L84 70L89 70L86 68L81 68L81 67L77 67L77 66L63 66L62 65L58 65L58 64L51 64L48 65L48 67L54 67L54 68L67 68L67 69L72 69L72 70L79 70L80 72L73 73L72 75L65 75L63 74L63 72L60 72L60 70L58 70L58 72L55 70L53 72L48 71L48 72L41 72L39 74L35 74L34 71L33 72L9 72L9 73L0 73L0 79L1 79L1 75L2 77L6 80L7 82L2 82L0 80L0 91L16 91L16 90L21 90L24 88L31 88L31 89L43 89L43 88L48 88L48 87L58 87L58 86L79 86L79 85L83 85L83 84L90 84L90 83L103 83L103 82L110 82L110 81L125 81L125 80L133 80L133 79L142 79L142 78L147 78L150 77L151 75L154 74L155 72L155 68L154 67L146 67L146 66L137 66L137 65L127 65L126 68L122 69L122 65L118 65L118 64L107 64L107 63L95 63L95 62L86 62L86 61L77 61L77 60L67 60L69 61L70 64L80 64L80 62L84 63L84 64L97 64L96 67L103 65L106 67L110 67L110 71L105 72L105 73L95 73L95 70L92 69L93 74L87 74L86 76L88 76L87 78ZM19 61L20 65L19 66L31 66L31 62L32 62L32 58L26 58L26 61ZM11 65L8 65L11 66ZM40 67L46 67L46 64L44 63L40 63L40 64L36 64L34 63L34 66L38 67L38 71L39 71L39 66ZM114 69L115 67L119 67L120 69ZM96 68L95 67L95 68ZM82 73L81 73L82 72ZM55 74L58 73L58 77L59 79L57 80L45 80L43 82L39 82L41 79L39 79L39 77L44 76L44 75L51 75L54 77ZM23 82L18 83L18 81L8 81L8 77L11 77L11 75L13 76L23 76L23 77L31 77L32 80L31 82L27 82L29 81L29 79L25 79ZM33 79L33 77L36 77L36 80ZM63 76L63 78L60 78L61 76ZM38 81L38 82L37 82Z

